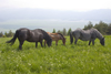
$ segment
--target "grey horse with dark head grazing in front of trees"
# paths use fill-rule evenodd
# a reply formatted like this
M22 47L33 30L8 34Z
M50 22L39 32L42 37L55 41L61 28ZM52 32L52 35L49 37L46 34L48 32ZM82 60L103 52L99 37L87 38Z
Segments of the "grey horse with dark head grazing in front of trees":
M94 28L90 30L82 30L82 29L77 29L74 31L70 32L70 42L72 44L73 42L73 36L75 39L74 44L77 44L78 39L82 41L89 41L89 45L92 42L92 45L94 45L94 40L98 38L100 40L101 45L104 45L104 38L102 34Z

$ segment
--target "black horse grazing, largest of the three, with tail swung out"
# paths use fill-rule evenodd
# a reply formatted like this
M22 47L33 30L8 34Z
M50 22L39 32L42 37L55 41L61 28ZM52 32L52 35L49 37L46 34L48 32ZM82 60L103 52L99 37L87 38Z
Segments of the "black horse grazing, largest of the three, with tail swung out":
M11 43L11 45L14 43L16 39L19 40L19 50L22 50L22 44L24 41L28 42L36 42L36 47L38 46L38 42L40 42L42 45L42 40L44 39L47 41L48 46L51 46L52 39L49 36L49 34L41 29L36 30L29 30L27 28L21 28L16 31L16 34L10 41L7 41L7 43Z

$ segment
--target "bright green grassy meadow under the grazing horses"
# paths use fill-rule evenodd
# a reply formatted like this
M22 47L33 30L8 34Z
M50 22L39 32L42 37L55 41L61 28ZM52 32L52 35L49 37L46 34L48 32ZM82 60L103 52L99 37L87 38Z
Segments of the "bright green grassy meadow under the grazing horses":
M19 42L10 46L0 38L0 74L111 74L111 35L105 35L105 46L95 40L95 45L78 41L65 46L59 41L51 47L36 49L34 43L24 42L22 51Z

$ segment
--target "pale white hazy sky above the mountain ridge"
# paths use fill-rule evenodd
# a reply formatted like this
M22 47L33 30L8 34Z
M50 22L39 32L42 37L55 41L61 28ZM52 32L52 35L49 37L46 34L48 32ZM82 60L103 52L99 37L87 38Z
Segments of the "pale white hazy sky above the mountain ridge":
M89 11L95 9L111 9L111 0L0 0L0 8Z

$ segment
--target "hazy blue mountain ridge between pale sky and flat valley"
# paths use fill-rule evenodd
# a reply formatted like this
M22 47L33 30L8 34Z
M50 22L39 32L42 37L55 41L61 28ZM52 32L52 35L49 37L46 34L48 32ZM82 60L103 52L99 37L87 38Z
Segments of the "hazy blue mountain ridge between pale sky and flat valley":
M111 9L92 10L88 12L60 11L46 9L2 9L0 10L0 21L12 19L59 19L59 20L89 20L89 21L111 21Z

